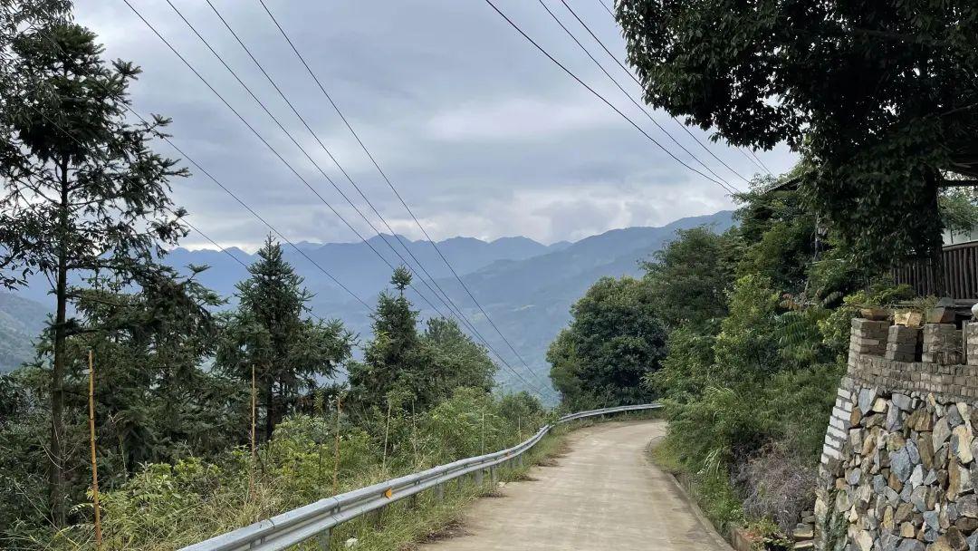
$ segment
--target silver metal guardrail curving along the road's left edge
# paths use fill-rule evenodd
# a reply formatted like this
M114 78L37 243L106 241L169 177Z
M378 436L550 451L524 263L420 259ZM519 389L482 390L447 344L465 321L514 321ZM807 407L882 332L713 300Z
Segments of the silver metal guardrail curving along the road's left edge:
M378 482L333 497L320 499L315 503L293 509L271 519L184 547L180 551L237 551L244 549L279 551L312 538L319 539L322 549L329 549L330 530L333 527L371 511L377 511L394 501L416 495L432 487L441 496L444 492L445 482L468 474L474 474L475 482L481 484L482 477L487 470L491 480L495 482L498 465L508 461L517 461L519 465L522 465L523 453L532 449L556 425L586 417L657 409L659 407L661 405L657 403L624 405L564 415L557 419L554 425L543 427L535 435L511 448L460 459L453 463L432 467L420 473Z

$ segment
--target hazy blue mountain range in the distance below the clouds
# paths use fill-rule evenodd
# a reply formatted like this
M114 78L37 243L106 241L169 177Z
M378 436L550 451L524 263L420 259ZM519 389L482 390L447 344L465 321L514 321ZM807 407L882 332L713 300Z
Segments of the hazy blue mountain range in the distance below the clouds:
M315 295L311 301L313 313L343 320L361 339L370 336L370 312L349 293L373 304L377 294L387 288L391 266L413 265L417 258L427 271L421 273L422 278L427 280L430 275L433 279L426 286L418 274L415 278L415 289L429 302L417 292L408 293L422 318L438 315L436 311L448 314L451 308L434 298L428 286L438 293L443 291L479 335L509 363L510 367L504 365L500 371L499 381L504 388L520 390L530 386L543 390L549 387L549 366L544 358L547 347L568 322L571 304L591 284L602 276L641 275L640 262L673 239L677 230L709 225L715 231L724 231L732 224L732 212L724 210L682 218L661 227L610 230L574 243L549 246L525 237L492 242L457 237L437 243L452 268L430 243L403 236L378 236L366 243L300 242L294 248L286 246L285 253ZM400 256L392 252L394 249ZM175 249L166 261L184 269L189 265L208 266L198 276L200 282L229 298L230 306L234 303L235 284L246 277L244 266L230 256L248 264L256 255L237 248L225 251ZM349 293L316 264L328 270ZM5 352L24 349L23 341L29 342L26 336L36 335L47 311L53 309L47 305L50 302L43 280L32 282L16 297L0 295L0 371L23 359L17 353ZM499 333L506 336L506 341ZM498 360L495 356L494 359Z

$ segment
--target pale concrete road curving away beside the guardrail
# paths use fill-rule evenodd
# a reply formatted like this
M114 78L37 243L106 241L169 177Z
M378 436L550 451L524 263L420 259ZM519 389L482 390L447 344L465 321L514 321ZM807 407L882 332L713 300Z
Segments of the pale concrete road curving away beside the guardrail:
M568 436L556 466L534 467L501 497L469 507L464 535L424 551L731 551L668 475L646 459L658 421L603 424Z

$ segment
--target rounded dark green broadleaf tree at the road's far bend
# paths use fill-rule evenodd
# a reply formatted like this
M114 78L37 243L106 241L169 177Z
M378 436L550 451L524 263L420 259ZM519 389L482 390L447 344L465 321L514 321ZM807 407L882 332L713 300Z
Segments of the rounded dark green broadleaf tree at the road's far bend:
M665 356L655 301L640 280L598 280L571 306L570 326L548 351L557 390L604 406L648 399L642 381Z

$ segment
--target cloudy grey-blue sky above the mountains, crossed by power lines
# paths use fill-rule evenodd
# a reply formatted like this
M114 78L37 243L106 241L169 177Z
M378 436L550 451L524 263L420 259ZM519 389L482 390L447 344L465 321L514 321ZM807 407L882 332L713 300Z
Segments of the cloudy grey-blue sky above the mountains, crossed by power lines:
M172 117L168 132L190 158L292 241L349 242L374 229L350 207L325 172L374 227L388 233L322 145L390 227L409 238L422 230L302 67L258 0L212 0L262 67L305 118L276 93L218 16L200 0L171 0L275 115L312 161L264 113L165 0L130 0L200 72L317 197L255 137L123 0L78 0L75 18L95 30L106 57L143 68L132 86L141 115ZM377 159L427 233L492 240L523 235L545 244L629 226L657 226L731 208L729 193L670 158L627 120L520 36L484 0L265 0L339 110ZM639 86L607 56L559 0L544 0L632 98ZM607 0L567 0L621 61L620 29ZM690 166L689 158L618 90L537 0L496 0L514 23L649 136ZM642 103L641 101L639 102ZM695 140L750 178L760 169L736 149L690 137L669 115L648 113L690 153L733 186L746 184ZM318 141L317 141L318 138ZM156 149L184 159L167 144ZM776 174L795 156L784 147L757 152ZM175 180L173 198L189 220L222 247L253 251L268 229L200 169ZM319 168L317 168L318 164ZM709 172L706 172L710 175ZM713 177L711 175L711 177ZM212 248L197 233L181 243Z

